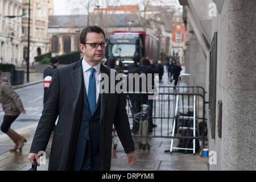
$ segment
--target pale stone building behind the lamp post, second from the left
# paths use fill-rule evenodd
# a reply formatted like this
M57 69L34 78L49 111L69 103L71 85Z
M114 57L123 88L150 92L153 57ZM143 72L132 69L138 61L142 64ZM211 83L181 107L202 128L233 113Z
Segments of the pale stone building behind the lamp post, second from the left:
M28 51L28 0L22 1L22 58L27 59ZM30 1L30 64L34 57L49 52L48 15L53 14L53 0Z

